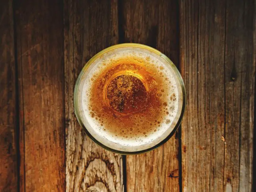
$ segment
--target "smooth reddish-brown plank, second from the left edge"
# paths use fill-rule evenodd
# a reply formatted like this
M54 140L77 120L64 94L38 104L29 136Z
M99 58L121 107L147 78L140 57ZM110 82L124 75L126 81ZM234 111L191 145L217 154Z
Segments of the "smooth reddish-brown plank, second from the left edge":
M20 191L65 190L63 6L15 2Z

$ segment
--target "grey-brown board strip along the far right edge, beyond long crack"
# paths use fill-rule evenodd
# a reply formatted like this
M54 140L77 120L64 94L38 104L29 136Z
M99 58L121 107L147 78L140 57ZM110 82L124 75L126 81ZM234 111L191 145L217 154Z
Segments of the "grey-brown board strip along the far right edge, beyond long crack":
M254 0L227 0L225 51L224 189L252 191L255 8Z

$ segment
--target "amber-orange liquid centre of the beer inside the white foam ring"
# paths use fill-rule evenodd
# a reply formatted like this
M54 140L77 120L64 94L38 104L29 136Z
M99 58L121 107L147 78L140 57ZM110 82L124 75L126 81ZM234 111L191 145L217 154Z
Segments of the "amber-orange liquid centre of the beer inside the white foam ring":
M169 124L169 79L161 70L137 57L113 61L91 78L91 118L121 138L147 137L162 123ZM175 99L175 94L172 96Z

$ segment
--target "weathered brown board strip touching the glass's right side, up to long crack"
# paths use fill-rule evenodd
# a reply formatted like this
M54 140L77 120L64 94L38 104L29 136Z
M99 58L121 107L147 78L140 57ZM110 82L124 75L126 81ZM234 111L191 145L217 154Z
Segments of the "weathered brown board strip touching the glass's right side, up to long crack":
M223 191L225 2L180 3L182 190Z

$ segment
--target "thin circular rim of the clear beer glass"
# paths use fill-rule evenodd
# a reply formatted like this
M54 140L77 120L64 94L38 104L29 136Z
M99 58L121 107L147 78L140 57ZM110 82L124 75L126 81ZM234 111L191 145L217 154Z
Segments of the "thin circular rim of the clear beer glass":
M115 150L111 147L108 147L106 145L104 145L103 143L101 143L100 141L98 141L96 138L94 138L90 133L89 131L87 130L87 128L85 127L85 125L82 123L82 120L80 118L80 115L79 115L79 111L78 111L78 107L77 107L77 91L78 91L78 88L79 88L79 85L80 85L80 82L81 82L81 78L83 76L83 74L85 73L85 71L88 69L88 67L94 63L94 61L99 58L101 55L103 55L104 53L107 53L109 51L112 51L114 49L117 49L117 48L125 48L125 47L137 47L137 48L142 48L142 49L146 49L146 50L149 50L151 52L154 52L156 53L157 55L159 55L160 57L162 57L163 59L166 60L167 64L171 65L172 69L174 70L174 72L176 73L177 75L177 80L179 80L179 83L180 83L180 86L181 86L181 90L182 90L182 108L181 108L181 114L180 114L180 117L176 123L176 125L174 126L173 130L171 131L171 133L165 138L163 139L162 141L160 141L159 143L155 144L154 146L152 147L149 147L148 149L144 149L144 150L141 150L141 151L120 151L120 150ZM89 138L95 142L97 145L101 146L102 148L110 151L110 152L113 152L113 153L118 153L118 154L121 154L121 155L136 155L136 154L142 154L142 153L146 153L146 152L149 152L149 151L152 151L154 149L156 149L157 147L163 145L164 143L166 143L173 135L174 133L176 132L176 130L179 128L180 124L181 124L181 121L183 119L183 116L184 116L184 112L185 112L185 108L186 108L186 91L185 91L185 85L184 85L184 82L183 82L183 79L182 79L182 76L179 72L179 70L177 69L177 67L173 64L173 62L166 56L164 55L163 53L161 53L160 51L150 47L150 46L146 46L146 45L142 45L142 44L139 44L139 43L121 43L121 44L117 44L117 45L113 45L113 46L110 46L106 49L103 49L102 51L98 52L97 54L95 54L86 64L85 66L83 67L83 69L81 70L79 76L77 77L77 80L76 80L76 83L75 83L75 88L74 88L74 98L73 98L73 104L74 104L74 111L75 111L75 115L76 115L76 119L77 121L79 122L80 126L82 127L82 130L85 132L86 135L89 136Z

